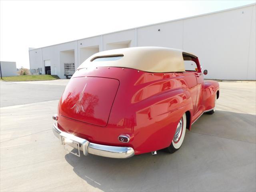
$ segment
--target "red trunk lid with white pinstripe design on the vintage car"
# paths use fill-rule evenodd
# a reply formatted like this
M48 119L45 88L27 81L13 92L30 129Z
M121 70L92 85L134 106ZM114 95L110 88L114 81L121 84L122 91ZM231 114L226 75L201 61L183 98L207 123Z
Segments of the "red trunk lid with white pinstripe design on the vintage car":
M106 126L118 86L119 81L111 78L72 78L62 95L60 115Z

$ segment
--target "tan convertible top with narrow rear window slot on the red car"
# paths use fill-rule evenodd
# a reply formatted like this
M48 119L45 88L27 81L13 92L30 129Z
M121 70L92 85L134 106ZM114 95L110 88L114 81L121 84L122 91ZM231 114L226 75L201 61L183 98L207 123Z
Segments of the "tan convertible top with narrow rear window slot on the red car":
M97 58L119 56L118 60L97 61ZM121 57L123 56L123 57ZM183 72L184 57L196 56L178 49L164 47L132 47L98 52L90 56L79 67L97 66L132 68L146 72ZM186 60L186 59L185 59Z

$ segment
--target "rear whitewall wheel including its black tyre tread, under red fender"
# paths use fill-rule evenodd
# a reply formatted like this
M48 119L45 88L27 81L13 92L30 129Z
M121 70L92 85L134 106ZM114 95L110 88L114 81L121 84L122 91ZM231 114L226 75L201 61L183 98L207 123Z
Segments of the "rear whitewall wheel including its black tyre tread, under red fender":
M186 125L186 113L184 113L182 118L178 122L175 134L172 139L172 143L170 144L169 147L166 148L167 152L174 153L181 147L186 133Z

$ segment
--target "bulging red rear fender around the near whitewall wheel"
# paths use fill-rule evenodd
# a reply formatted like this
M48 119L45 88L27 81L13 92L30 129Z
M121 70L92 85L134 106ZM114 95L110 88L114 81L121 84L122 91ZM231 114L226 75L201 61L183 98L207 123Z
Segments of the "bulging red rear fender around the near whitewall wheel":
M138 142L137 154L145 152L145 149L150 152L170 146L180 118L193 109L190 93L184 88L155 95L135 105L134 136L136 137L133 142L136 146Z

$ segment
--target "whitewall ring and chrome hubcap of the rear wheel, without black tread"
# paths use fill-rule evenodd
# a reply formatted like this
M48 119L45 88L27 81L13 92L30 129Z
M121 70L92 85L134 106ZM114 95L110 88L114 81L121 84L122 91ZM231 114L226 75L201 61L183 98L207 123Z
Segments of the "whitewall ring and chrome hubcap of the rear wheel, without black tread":
M181 124L180 121L181 120L183 120L182 126L180 126L180 124ZM183 116L180 119L180 121L178 122L176 131L175 131L175 134L174 134L174 138L172 139L172 145L176 149L180 148L180 146L183 143L184 137L185 137L185 133L186 133L186 114L183 114ZM180 126L180 130L177 131L177 129L179 129L179 126ZM180 136L179 136L179 134L180 134Z

